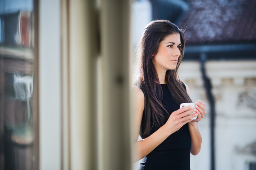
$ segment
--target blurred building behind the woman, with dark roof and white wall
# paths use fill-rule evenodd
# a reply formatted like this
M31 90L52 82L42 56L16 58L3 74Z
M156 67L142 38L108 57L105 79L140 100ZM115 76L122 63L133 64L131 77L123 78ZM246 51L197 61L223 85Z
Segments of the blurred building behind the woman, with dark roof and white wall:
M191 155L191 170L256 169L255 8L254 0L132 4L133 49L151 20L170 20L186 29L179 76L189 86L192 101L201 99L207 105L198 123L201 152Z

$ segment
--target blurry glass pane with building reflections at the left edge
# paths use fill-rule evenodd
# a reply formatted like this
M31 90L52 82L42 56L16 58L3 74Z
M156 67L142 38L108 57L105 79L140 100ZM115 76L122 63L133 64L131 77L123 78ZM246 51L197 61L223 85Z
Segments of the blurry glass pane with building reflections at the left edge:
M33 170L33 1L0 0L0 170Z

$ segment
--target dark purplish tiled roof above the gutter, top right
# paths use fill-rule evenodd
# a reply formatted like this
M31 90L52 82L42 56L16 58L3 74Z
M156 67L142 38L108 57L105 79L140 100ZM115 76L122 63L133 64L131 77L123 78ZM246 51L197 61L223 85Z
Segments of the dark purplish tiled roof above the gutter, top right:
M187 0L188 44L256 42L256 0Z

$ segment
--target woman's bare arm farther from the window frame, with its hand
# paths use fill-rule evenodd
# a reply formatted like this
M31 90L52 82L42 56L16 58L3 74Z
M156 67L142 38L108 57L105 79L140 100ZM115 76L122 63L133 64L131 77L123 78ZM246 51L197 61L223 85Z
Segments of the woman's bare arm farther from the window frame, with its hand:
M186 85L186 91L187 91L187 94L190 97L189 87L187 85ZM192 153L192 155L197 155L200 152L201 144L202 144L202 136L199 132L197 122L200 121L204 117L205 112L201 109L201 107L204 110L205 110L205 108L204 108L203 105L199 107L198 106L199 104L201 104L201 103L200 102L195 102L195 105L196 105L195 108L197 109L196 112L198 113L198 118L188 123L188 125L189 125L189 134L190 134L190 137L191 137L190 153ZM202 111L203 111L203 113L201 113Z

